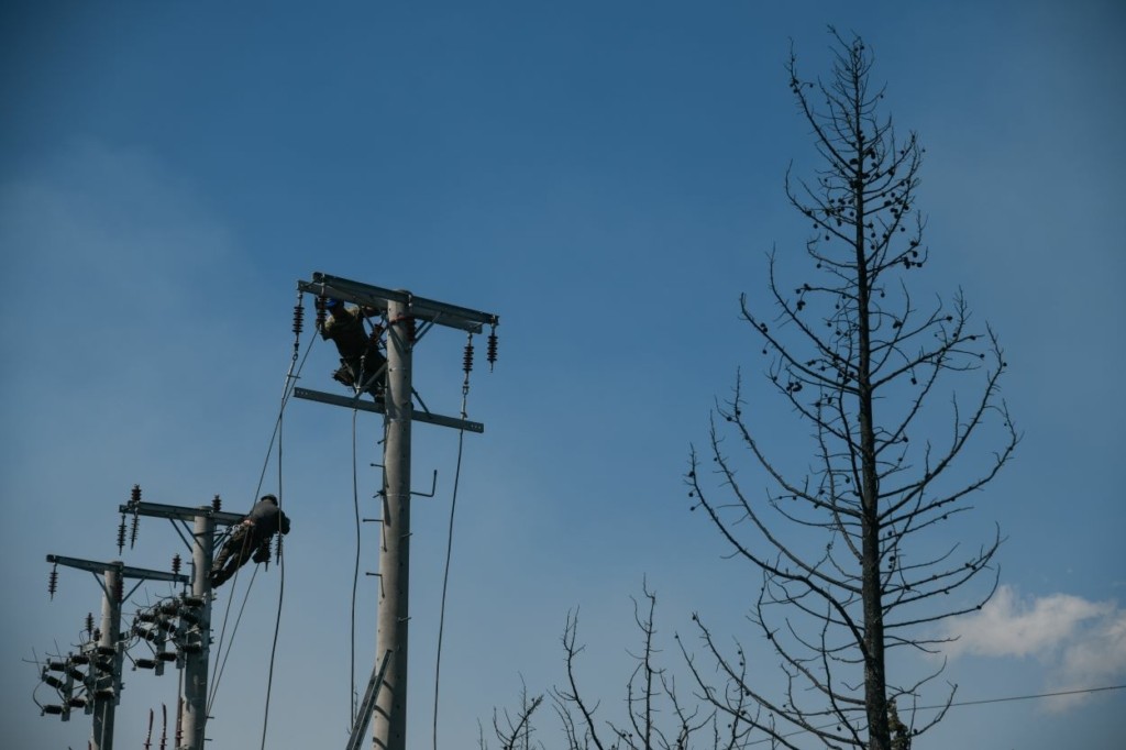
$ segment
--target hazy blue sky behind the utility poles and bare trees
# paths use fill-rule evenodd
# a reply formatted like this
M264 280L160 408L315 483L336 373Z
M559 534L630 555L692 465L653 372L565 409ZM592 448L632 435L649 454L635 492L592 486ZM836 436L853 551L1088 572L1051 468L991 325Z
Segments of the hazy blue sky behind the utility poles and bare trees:
M0 10L9 744L78 748L89 734L87 717L39 717L29 699L23 660L65 650L99 607L73 570L48 601L47 553L115 559L116 509L134 483L154 502L221 493L227 509L249 507L293 350L295 285L313 271L501 316L495 372L479 361L470 392L486 428L465 439L440 744L476 744L477 721L511 706L521 678L533 693L562 680L558 636L577 607L580 677L610 717L643 578L670 668L692 611L748 633L757 579L689 512L682 474L736 367L761 367L739 295L766 305L771 247L801 273L804 220L781 180L813 153L784 63L793 41L801 68L825 73L826 24L872 45L888 111L927 148L932 262L914 291L960 286L997 329L1025 434L958 527L976 543L1001 525L1003 588L958 625L944 678L966 702L1126 684L1120 5L475 6ZM458 409L462 343L436 331L415 355L436 411ZM302 385L332 390L332 364L314 345ZM799 457L788 412L756 384L762 429ZM366 516L376 432L361 416ZM457 436L420 426L415 440L417 485L439 474L413 512L408 736L423 747ZM294 533L268 747L331 747L349 713L351 414L293 402L282 444L267 489L280 481ZM365 526L364 570L375 550ZM179 551L150 519L124 560L164 569ZM360 689L374 580L359 582ZM251 592L209 725L216 747L260 742L278 583L271 568ZM769 652L756 658L776 679ZM140 747L149 708L171 708L176 684L126 679L117 741ZM1124 700L958 706L926 744L1120 747Z

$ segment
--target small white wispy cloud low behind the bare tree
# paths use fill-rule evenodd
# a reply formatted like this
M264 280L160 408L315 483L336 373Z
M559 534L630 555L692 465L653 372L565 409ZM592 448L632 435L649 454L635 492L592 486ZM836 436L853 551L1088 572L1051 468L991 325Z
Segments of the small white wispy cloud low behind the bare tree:
M957 637L946 648L950 658L1035 658L1046 669L1049 691L1102 687L1126 678L1126 610L1115 601L1067 593L1021 598L1002 586L981 611L951 623L947 635ZM1062 711L1082 697L1060 696L1048 706Z

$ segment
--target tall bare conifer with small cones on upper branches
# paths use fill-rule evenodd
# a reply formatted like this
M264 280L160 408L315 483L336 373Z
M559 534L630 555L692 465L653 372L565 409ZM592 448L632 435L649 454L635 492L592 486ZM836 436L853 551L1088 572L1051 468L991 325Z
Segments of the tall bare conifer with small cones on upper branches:
M812 224L811 277L779 279L771 253L769 323L741 300L770 357L769 384L810 428L811 458L784 466L768 426L752 427L739 376L687 475L694 509L761 573L750 619L780 657L786 688L771 698L752 685L742 648L730 654L703 622L705 652L726 682L711 686L685 654L707 699L776 745L797 748L812 733L820 745L892 750L946 711L900 722L895 702L918 705L942 668L905 681L897 669L892 680L887 657L936 651L931 626L980 609L995 589L1000 532L963 550L945 521L969 508L1019 436L999 396L1006 365L993 331L974 330L960 293L919 305L909 292L928 261L915 208L923 149L879 113L884 90L869 84L864 42L830 32L828 81L803 80L793 53L787 66L820 163L813 179L786 177L790 204ZM742 481L729 439L762 470L765 492Z

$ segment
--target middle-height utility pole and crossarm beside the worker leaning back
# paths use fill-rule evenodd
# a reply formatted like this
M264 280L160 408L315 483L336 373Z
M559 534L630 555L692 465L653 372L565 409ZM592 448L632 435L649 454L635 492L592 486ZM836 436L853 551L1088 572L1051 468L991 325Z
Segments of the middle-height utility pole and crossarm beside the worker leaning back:
M233 526L242 521L242 514L217 510L214 505L198 508L166 506L155 502L129 501L120 507L123 514L154 516L179 521L185 527L193 523L191 595L197 605L197 622L190 624L180 644L184 652L182 740L177 750L204 750L207 726L207 675L211 659L211 565L215 527ZM179 532L179 527L176 527ZM181 538L187 539L181 534Z

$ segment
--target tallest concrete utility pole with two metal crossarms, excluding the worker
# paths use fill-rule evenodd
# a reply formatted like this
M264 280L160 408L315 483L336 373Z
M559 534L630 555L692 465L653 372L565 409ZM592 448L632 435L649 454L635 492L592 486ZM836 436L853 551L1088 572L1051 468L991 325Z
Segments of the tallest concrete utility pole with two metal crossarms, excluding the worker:
M383 476L383 543L379 546L379 608L377 615L376 654L390 652L383 681L378 686L372 741L377 750L406 748L406 654L410 538L411 538L411 422L421 421L483 432L484 426L465 419L436 414L422 407L414 410L411 366L414 345L432 325L445 325L480 333L491 327L489 359L495 359L495 327L500 318L492 313L458 307L414 296L405 291L391 291L327 274L313 274L311 282L298 282L301 293L318 297L351 302L370 307L387 319L387 372L383 400L361 401L355 398L294 389L298 399L361 409L386 416ZM467 348L466 369L472 348ZM363 717L357 721L367 721Z

